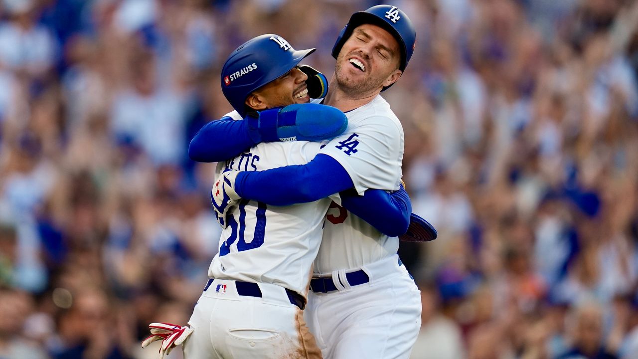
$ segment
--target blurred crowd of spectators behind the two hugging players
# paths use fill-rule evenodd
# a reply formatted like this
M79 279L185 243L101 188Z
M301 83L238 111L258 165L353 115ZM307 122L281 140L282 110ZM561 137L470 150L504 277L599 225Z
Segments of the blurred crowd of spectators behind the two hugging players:
M1 0L0 358L155 358L217 252L219 71L263 33L330 74L364 0ZM412 358L638 358L638 3L396 0ZM179 351L179 350L178 350ZM181 353L170 357L179 358Z

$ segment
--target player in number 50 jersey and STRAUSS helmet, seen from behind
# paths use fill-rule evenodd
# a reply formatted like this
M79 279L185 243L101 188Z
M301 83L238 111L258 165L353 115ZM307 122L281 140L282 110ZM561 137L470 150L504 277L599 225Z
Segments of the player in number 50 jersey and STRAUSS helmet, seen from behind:
M223 93L235 109L228 116L246 117L244 135L256 146L219 162L218 178L223 180L229 170L261 171L306 164L321 146L320 142L307 141L261 142L264 139L320 139L345 130L346 117L338 109L297 104L308 102L309 92L325 95L325 91L310 91L308 75L299 68L313 77L320 74L297 66L313 51L295 51L281 36L266 34L230 55L221 77ZM271 109L281 105L287 106ZM211 197L223 196L222 190L223 185L216 182ZM390 195L370 190L364 196L344 198L354 213L366 217L368 208L375 206L399 227L394 231L406 230L410 202L404 191ZM154 336L143 345L164 339L162 350L170 351L172 344L188 337L184 342L186 358L320 358L302 309L330 203L328 198L285 207L248 199L230 205L223 201L225 210L218 216L224 228L219 253L212 260L211 279L193 310L189 327L153 323Z

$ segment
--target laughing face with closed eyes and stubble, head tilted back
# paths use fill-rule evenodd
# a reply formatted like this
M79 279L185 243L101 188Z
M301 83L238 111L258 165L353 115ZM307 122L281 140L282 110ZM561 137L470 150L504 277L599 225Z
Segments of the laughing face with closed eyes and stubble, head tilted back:
M373 24L360 25L339 51L337 83L360 95L381 91L401 77L400 59L399 44L392 34Z

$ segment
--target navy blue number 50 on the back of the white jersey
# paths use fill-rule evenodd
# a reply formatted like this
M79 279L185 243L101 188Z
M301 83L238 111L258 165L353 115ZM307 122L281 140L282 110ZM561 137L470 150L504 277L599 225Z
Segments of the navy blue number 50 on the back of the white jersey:
M235 243L237 237L239 237L239 241L237 241L237 250L239 252L262 246L266 229L266 204L257 202L258 206L255 211L255 234L253 235L253 240L246 243L244 231L246 231L246 205L248 202L248 199L242 199L241 202L239 202L239 224L237 224L235 216L228 217L228 226L231 229L231 233L230 236L226 238L226 241L219 246L220 257L230 253L230 245Z

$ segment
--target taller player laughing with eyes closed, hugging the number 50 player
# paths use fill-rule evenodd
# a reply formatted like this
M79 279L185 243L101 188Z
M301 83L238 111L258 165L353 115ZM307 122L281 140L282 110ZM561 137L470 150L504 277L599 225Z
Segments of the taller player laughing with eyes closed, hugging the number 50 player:
M214 202L251 199L283 206L352 187L358 194L399 188L403 128L380 92L401 77L415 39L412 22L396 6L354 13L332 49L335 72L323 100L348 116L345 134L306 165L223 173L224 197ZM304 313L308 326L324 358L408 358L421 307L419 290L396 255L398 240L335 202L314 263ZM225 209L216 210L221 215ZM383 221L383 215L377 219Z

